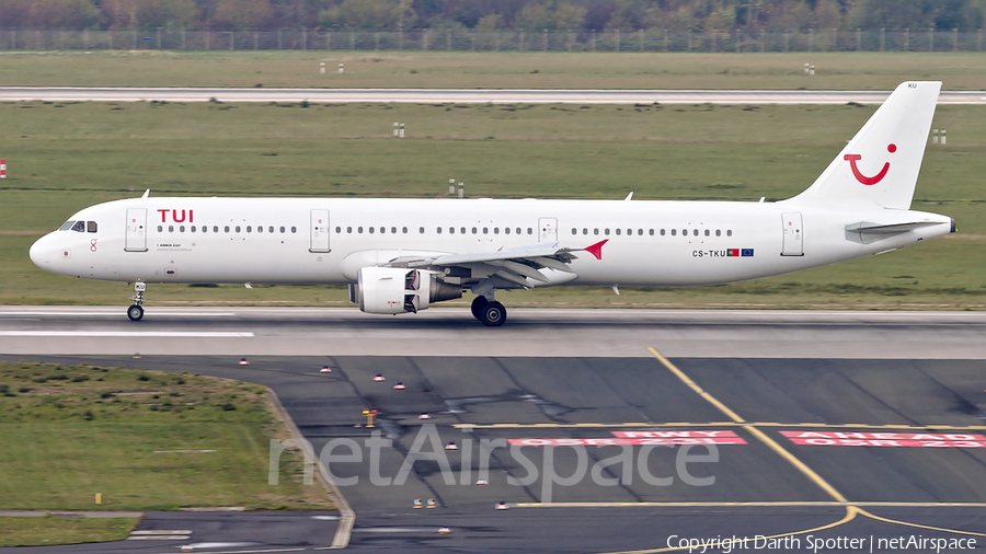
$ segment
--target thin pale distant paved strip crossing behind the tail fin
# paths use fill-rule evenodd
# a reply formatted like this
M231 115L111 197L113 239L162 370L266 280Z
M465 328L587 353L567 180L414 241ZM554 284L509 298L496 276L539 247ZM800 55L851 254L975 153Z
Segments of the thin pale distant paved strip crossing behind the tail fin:
M401 102L460 104L881 104L890 91L226 89L0 86L0 102ZM939 104L986 104L984 91L941 91Z

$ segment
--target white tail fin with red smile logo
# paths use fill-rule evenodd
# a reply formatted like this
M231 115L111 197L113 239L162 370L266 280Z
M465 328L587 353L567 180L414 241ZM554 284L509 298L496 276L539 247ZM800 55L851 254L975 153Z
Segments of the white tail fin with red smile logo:
M910 208L940 90L940 81L901 83L812 186L794 199Z

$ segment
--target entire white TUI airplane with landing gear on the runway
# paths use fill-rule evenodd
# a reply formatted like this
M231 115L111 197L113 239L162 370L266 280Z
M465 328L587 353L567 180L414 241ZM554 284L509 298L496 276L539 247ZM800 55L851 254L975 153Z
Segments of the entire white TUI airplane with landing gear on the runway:
M151 197L73 215L35 242L41 268L134 285L346 284L367 313L497 290L713 285L882 254L955 232L910 210L941 82L904 82L803 193L780 201Z

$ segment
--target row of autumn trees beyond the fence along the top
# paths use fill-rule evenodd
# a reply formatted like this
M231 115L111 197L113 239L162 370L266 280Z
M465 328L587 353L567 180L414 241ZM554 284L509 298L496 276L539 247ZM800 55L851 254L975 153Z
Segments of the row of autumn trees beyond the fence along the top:
M0 28L767 31L984 26L986 0L0 0Z

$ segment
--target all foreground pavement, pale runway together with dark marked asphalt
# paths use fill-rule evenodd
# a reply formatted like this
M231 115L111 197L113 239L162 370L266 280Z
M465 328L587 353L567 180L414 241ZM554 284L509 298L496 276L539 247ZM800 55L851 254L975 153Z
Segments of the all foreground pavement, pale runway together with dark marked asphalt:
M666 552L710 536L746 550L772 536L789 552L895 538L986 544L986 314L513 310L495 330L459 309L125 318L4 307L0 357L270 386L355 509L351 550ZM378 411L375 427L364 409ZM335 521L291 516L222 515L223 526L149 513L138 530L191 534L137 542L154 554L190 542L226 542L196 551L227 554L329 547Z

